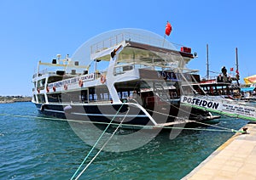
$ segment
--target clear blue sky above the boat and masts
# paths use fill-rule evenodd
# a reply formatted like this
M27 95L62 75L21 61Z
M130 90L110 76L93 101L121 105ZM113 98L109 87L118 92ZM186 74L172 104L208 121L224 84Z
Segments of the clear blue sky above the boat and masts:
M0 0L0 95L32 95L38 61L72 54L105 31L138 28L192 48L188 67L207 74L236 67L241 79L256 74L256 1L238 0ZM212 73L210 76L216 76ZM241 80L243 82L243 80Z

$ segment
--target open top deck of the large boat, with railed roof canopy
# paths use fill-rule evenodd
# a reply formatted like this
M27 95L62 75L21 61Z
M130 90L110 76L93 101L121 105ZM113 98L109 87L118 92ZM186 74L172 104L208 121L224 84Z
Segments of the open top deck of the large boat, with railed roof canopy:
M162 37L151 34L137 35L125 31L90 45L90 59L109 61L109 52L120 44L124 46L124 49L119 53L119 62L150 64L160 67L177 64L179 68L183 68L196 55L196 53L191 53L191 48L167 42ZM184 62L181 63L181 61Z

